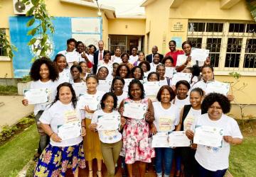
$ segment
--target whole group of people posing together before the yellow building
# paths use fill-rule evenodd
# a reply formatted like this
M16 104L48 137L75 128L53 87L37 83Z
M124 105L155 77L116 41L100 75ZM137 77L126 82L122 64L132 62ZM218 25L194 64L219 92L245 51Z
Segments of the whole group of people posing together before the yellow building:
M70 48L74 46L70 47L70 41L67 45L69 52L73 52L74 49L71 51ZM152 158L155 158L157 176L170 176L174 159L176 176L181 176L181 171L184 176L224 176L228 169L230 144L240 144L242 135L237 122L225 115L230 111L230 101L234 97L220 93L205 95L206 82L214 79L209 58L203 67L189 66L191 42L183 42L183 53L177 52L175 41L170 41L171 52L161 61L156 53L150 64L145 61L143 52L139 52L134 63L129 63L126 53L120 56L122 62L117 63L112 62L110 52L105 50L104 61L97 74L91 74L92 62L85 55L85 45L83 50L78 46L81 61L73 61L70 56L74 55L67 59L65 52L60 52L53 62L42 57L31 67L31 89L47 88L50 93L48 103L38 103L34 108L40 134L36 156L41 154L35 176L65 176L68 168L78 176L78 169L85 169L87 161L89 176L92 177L93 159L97 159L97 176L102 176L102 160L107 167L107 176L114 176L119 156L130 177L133 176L135 162L139 166L139 176L144 176L146 164L151 163ZM186 56L183 63L178 61L177 53ZM172 54L175 54L174 58ZM178 72L191 72L194 79L172 85L171 78L165 76L166 67L176 67ZM130 78L132 81L126 90L125 79ZM106 79L112 80L110 91L97 89L99 80ZM146 98L143 81L161 83L154 101ZM83 84L84 91L75 90L77 83ZM83 105L87 101L93 105L96 103L97 107ZM28 105L28 100L24 98L22 103ZM142 118L125 117L127 103L143 106L145 113ZM99 119L113 115L120 118L119 129L98 130ZM61 139L58 128L70 122L80 122L80 136ZM168 126L163 125L165 122ZM157 132L185 131L193 141L197 125L223 128L223 147L201 144L151 147L152 135Z

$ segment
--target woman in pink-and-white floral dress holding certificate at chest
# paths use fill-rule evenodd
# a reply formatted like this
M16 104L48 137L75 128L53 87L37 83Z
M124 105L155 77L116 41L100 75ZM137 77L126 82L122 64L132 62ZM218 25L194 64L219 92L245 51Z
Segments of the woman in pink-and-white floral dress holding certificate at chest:
M119 112L127 118L123 131L123 148L121 155L125 156L125 163L129 177L132 177L132 164L139 161L140 176L144 176L146 163L154 157L151 149L149 124L154 121L154 108L150 99L145 98L144 87L138 79L129 84L128 98L119 107Z

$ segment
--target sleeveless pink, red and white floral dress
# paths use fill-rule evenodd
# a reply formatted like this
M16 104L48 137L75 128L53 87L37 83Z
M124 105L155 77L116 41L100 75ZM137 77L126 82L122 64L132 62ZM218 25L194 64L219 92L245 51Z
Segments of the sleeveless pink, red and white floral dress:
M124 101L134 102L130 98L126 98ZM147 98L142 99L140 103L148 108ZM154 149L151 148L149 124L145 118L142 120L127 118L122 136L123 147L121 155L125 156L126 164L134 164L135 161L151 162L151 158L155 156L155 153Z

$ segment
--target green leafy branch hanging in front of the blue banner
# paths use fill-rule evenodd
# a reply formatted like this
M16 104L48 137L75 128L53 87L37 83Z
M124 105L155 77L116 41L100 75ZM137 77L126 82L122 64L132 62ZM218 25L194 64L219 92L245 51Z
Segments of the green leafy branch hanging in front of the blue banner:
M23 0L23 3L28 6L32 4L31 8L26 13L26 16L32 16L32 18L26 23L27 27L32 26L35 22L39 22L36 27L28 31L27 35L32 35L33 38L28 42L28 45L34 45L36 43L37 47L34 47L33 52L36 53L36 57L48 57L47 51L50 50L50 45L48 44L48 30L50 33L54 33L54 26L52 23L53 16L50 16L44 0ZM37 38L39 35L40 38ZM37 42L38 41L38 42ZM36 59L34 57L33 59Z

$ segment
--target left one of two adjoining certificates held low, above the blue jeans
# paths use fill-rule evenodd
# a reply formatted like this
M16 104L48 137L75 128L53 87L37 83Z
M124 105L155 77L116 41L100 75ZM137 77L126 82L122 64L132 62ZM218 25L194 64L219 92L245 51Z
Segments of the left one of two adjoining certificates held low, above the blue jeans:
M168 132L157 132L153 135L151 147L169 147Z

